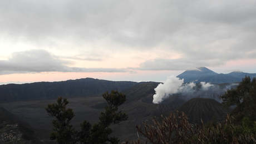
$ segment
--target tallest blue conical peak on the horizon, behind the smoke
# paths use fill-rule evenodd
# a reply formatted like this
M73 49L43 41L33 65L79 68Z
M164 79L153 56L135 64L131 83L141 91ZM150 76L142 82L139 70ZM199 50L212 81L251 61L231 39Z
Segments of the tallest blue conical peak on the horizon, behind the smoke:
M201 77L208 77L208 76L215 76L218 75L218 73L211 71L210 69L206 67L199 67L196 69L188 69L185 72L181 73L177 77L180 79L184 78L184 82L192 82L196 81Z

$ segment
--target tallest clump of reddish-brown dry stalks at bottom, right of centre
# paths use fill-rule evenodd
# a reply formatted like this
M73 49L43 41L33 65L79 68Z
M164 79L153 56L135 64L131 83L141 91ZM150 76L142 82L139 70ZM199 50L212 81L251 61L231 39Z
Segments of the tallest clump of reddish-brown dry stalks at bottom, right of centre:
M193 143L195 134L193 126L188 121L184 112L170 113L169 117L161 116L162 122L156 118L153 120L155 127L144 122L145 132L141 126L136 126L137 131L144 135L147 140L145 143ZM141 143L141 140L132 143Z

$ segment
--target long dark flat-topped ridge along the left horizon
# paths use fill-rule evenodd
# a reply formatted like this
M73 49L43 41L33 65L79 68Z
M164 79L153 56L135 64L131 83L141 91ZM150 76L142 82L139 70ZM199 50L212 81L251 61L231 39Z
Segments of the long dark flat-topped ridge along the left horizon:
M123 91L136 84L137 82L116 82L93 78L61 82L35 82L22 85L8 84L0 86L0 102L52 100L60 96L67 98L101 96L107 91Z

